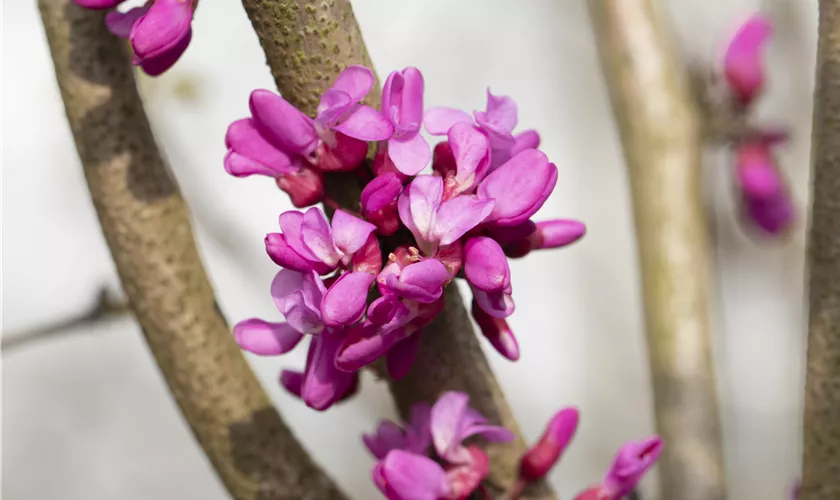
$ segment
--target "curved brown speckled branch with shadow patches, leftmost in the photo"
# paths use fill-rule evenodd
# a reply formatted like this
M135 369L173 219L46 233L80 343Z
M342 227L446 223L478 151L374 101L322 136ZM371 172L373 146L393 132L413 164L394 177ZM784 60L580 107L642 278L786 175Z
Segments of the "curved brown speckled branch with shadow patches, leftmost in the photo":
M266 397L202 267L125 44L104 14L39 0L85 177L129 303L196 439L236 499L344 499Z

